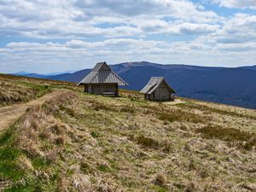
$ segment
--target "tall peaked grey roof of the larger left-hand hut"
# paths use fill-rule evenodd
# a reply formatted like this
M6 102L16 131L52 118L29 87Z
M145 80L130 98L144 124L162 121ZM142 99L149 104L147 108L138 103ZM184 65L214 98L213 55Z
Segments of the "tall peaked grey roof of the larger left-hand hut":
M97 63L96 67L94 67L91 72L82 81L79 82L79 85L104 83L117 83L119 85L128 85L116 73L113 73L112 69L108 67L108 64L106 62Z

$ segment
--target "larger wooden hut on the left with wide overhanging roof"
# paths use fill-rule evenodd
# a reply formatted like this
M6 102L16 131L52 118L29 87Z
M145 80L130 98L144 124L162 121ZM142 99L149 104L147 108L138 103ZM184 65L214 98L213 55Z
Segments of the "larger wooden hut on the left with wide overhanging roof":
M119 96L119 85L128 85L106 62L96 64L91 72L81 81L84 91L103 96Z

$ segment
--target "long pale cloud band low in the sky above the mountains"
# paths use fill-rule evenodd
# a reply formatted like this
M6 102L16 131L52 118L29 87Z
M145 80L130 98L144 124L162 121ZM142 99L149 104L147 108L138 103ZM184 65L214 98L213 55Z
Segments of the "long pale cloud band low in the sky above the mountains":
M241 51L239 55L237 51ZM200 41L168 43L132 38L110 38L97 42L70 40L63 44L9 43L4 49L0 49L0 55L2 73L6 70L8 72L25 70L36 73L67 71L71 66L73 69L90 68L97 61L108 61L110 64L123 61L209 66L225 64L231 67L241 63L253 64L252 61L256 59L256 44L211 45Z

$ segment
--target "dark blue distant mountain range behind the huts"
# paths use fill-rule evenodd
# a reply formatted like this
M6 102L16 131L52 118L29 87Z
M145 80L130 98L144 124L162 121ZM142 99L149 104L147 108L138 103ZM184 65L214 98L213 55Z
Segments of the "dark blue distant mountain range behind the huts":
M115 73L128 82L125 89L141 90L150 77L163 76L178 96L208 102L256 109L256 66L253 67L196 67L188 65L160 65L147 61L111 65ZM40 75L20 74L26 77L79 82L90 69L75 73ZM17 73L15 73L17 74Z

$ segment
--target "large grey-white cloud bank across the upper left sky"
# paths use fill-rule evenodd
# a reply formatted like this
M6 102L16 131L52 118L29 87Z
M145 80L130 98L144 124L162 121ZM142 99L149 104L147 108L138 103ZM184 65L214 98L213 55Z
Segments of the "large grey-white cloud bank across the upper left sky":
M0 35L28 38L145 37L150 27L160 28L158 33L195 34L205 33L203 25L220 19L213 11L201 9L188 0L10 0L0 3ZM143 23L153 23L153 26L142 26ZM206 32L212 32L209 27L212 26L207 26Z

